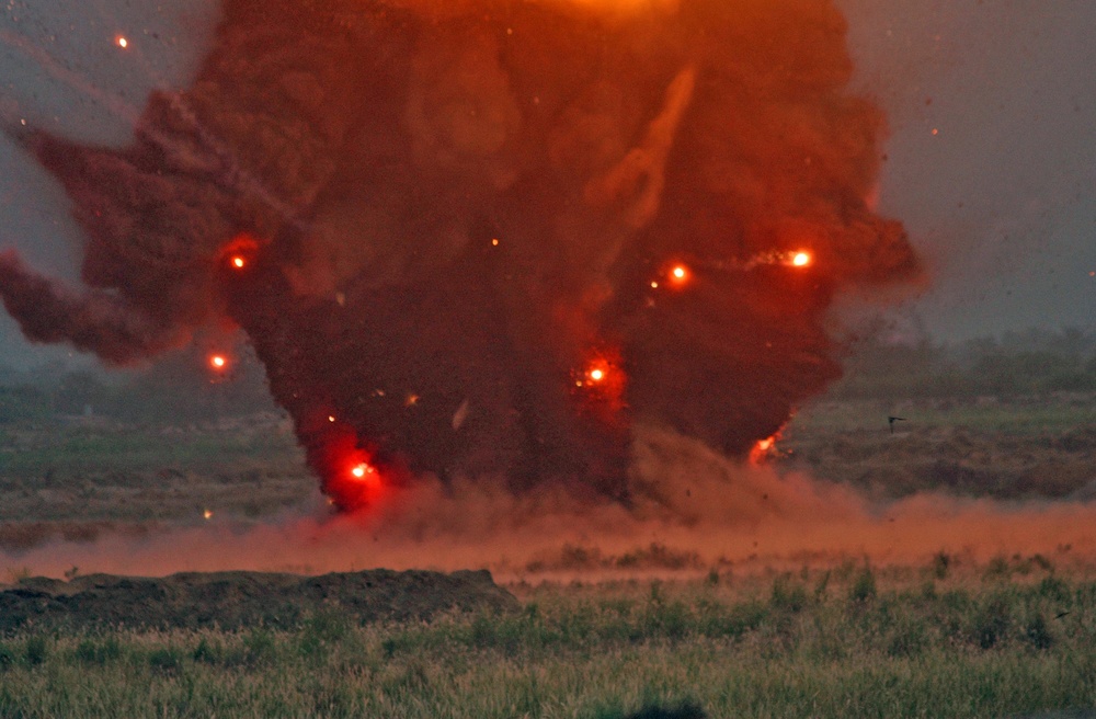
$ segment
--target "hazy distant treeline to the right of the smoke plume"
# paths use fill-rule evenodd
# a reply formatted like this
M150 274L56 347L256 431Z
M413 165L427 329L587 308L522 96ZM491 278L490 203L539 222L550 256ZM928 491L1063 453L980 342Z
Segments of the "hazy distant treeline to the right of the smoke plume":
M1096 330L1030 329L960 343L892 341L884 332L852 342L844 397L1018 396L1096 391Z

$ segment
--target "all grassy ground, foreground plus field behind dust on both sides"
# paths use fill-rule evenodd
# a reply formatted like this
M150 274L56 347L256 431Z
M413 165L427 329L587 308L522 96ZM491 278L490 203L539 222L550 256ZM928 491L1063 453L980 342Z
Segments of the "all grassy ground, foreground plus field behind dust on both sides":
M923 490L1087 500L1091 395L825 399L777 467L876 499ZM905 420L890 433L887 416ZM185 426L85 420L0 427L0 543L90 539L310 511L283 418ZM943 538L941 538L943 541ZM652 545L653 547L653 545ZM0 570L15 581L33 573ZM512 584L513 614L357 626L338 606L244 631L0 637L7 717L576 717L696 706L709 717L1008 717L1096 707L1096 566L1076 557L860 558L792 573L693 564L701 579ZM669 572L673 574L673 572ZM1074 715L1070 715L1074 716Z

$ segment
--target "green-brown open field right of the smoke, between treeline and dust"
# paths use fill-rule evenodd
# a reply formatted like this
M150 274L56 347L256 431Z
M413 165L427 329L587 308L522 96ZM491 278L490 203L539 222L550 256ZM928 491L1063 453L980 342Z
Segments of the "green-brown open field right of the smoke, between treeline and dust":
M891 433L889 416L901 416ZM1096 499L1096 393L823 399L777 445L783 467L877 499L918 491Z

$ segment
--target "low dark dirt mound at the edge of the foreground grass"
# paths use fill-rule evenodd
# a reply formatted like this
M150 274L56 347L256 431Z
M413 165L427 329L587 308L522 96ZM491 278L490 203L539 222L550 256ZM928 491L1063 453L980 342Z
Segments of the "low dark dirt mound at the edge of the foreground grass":
M162 579L89 574L68 582L36 577L0 592L0 634L28 625L290 627L322 610L365 624L429 619L450 609L516 607L517 600L488 571L380 569L320 577L186 572Z

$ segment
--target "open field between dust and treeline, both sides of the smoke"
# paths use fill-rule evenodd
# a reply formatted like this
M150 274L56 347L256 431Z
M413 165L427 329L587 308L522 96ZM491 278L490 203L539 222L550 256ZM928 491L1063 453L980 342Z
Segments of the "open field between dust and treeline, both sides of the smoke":
M887 418L902 416L889 431ZM1096 499L1096 396L904 401L826 398L803 408L769 461L874 499L917 491ZM104 532L254 523L324 506L277 413L189 424L96 418L0 425L0 549Z

